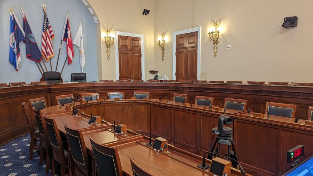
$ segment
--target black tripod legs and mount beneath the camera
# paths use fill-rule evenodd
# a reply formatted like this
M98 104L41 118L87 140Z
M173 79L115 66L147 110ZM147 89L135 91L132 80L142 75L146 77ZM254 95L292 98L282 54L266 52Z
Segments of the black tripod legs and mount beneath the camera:
M213 140L213 138L212 138L212 140ZM211 143L212 144L212 143ZM214 152L214 148L215 148L215 146L216 146L216 144L218 144L217 145L217 149L216 149L216 151ZM234 145L234 141L233 141L233 137L228 137L228 136L217 136L216 137L216 139L215 139L215 142L214 142L214 144L213 144L213 147L212 147L212 149L211 149L211 153L216 153L216 154L218 154L219 155L219 148L220 148L220 145L221 144L224 144L224 145L227 145L228 146L228 157L229 158L233 158L234 160L236 160L236 161L238 161L238 159L237 159L237 153L236 153L236 150L235 150L235 145ZM233 147L233 151L231 151L230 150L230 147ZM213 157L214 155L213 154L209 154L208 155L208 159L212 159L212 157ZM233 160L231 161L232 162L232 167L233 168L236 168L236 165L237 165L237 163L236 162L234 162Z

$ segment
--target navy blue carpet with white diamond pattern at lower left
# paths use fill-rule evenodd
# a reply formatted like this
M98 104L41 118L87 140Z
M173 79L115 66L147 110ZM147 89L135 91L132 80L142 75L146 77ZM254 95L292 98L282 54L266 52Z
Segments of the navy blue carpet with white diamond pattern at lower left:
M37 149L33 159L29 160L29 144L29 134L25 134L0 147L0 176L46 176L46 165L44 162L39 165ZM56 173L58 170L56 166ZM48 175L51 175L51 170Z

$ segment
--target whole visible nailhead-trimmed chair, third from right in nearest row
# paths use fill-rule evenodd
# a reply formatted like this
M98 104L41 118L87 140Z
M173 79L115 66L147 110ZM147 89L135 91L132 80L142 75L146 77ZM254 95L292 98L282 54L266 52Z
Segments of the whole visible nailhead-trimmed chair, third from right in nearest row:
M74 175L91 176L91 166L88 163L88 154L85 145L83 134L78 130L70 129L64 123L67 140L70 150L70 165L69 172L74 172Z

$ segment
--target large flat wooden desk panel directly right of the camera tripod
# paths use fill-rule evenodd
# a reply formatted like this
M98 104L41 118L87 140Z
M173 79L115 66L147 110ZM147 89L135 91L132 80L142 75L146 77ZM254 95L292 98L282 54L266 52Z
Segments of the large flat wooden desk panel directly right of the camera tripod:
M276 173L278 129L254 122L235 120L238 161L252 167ZM255 159L258 158L258 159Z

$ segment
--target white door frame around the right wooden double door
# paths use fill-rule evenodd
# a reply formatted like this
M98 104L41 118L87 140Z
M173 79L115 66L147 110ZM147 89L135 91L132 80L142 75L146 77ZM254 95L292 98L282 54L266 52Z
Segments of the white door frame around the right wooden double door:
M201 26L190 28L190 29L184 29L180 31L173 32L173 79L176 80L176 35L180 34L187 34L191 32L198 32L198 65L197 65L197 79L200 80L200 60L201 60Z

